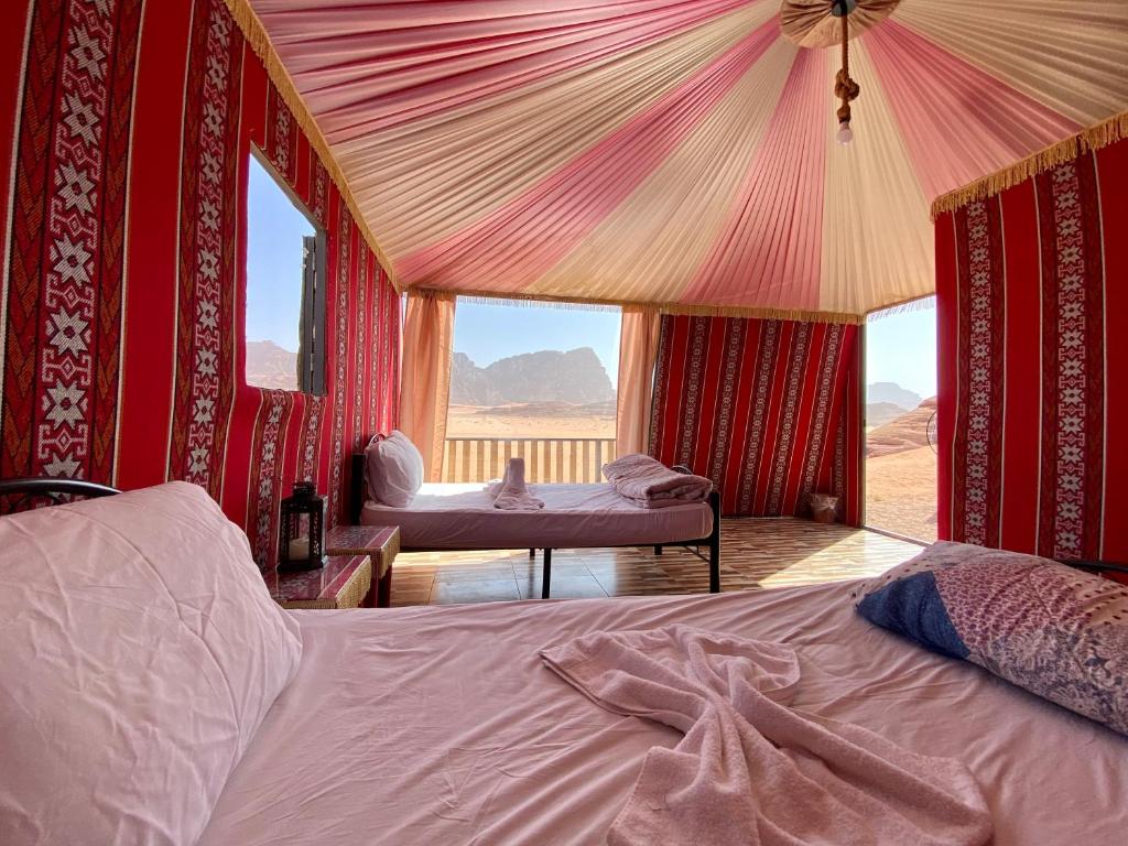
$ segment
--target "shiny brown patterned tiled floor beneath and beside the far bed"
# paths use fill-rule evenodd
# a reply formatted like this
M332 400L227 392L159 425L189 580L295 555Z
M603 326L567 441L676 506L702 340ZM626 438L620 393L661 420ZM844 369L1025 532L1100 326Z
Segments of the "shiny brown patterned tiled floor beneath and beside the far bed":
M920 547L844 526L807 520L725 520L721 587L756 590L857 579L884 572ZM449 605L540 596L541 556L528 549L473 553L402 553L396 557L391 603ZM693 554L651 547L553 550L554 599L658 593L704 593L708 565Z

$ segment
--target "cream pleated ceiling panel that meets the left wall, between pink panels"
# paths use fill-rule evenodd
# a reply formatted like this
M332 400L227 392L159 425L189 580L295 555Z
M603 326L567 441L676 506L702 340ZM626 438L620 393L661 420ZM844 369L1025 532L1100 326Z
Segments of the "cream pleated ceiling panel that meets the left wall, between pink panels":
M434 244L504 208L724 54L769 14L744 9L615 63L571 71L473 107L338 147L365 214L396 254ZM428 147L420 168L418 147Z

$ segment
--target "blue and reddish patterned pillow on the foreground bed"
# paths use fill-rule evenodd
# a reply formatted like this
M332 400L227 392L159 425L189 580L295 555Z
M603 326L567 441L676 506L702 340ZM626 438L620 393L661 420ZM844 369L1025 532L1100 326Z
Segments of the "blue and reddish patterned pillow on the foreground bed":
M1128 588L1031 555L963 558L882 582L858 613L1128 734Z

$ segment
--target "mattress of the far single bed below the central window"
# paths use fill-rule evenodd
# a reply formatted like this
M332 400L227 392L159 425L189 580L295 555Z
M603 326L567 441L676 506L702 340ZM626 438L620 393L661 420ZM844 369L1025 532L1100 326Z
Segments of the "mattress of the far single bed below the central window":
M529 485L540 511L502 511L482 484L425 484L407 508L365 502L365 526L398 526L399 543L415 549L520 549L644 546L707 537L707 503L644 509L606 483Z

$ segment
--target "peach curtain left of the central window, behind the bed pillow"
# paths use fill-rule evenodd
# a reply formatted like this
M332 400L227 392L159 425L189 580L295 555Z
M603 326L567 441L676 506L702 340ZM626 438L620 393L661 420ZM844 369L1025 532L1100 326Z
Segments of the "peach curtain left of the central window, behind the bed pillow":
M453 342L455 294L408 292L404 317L399 429L423 453L423 468L429 482L442 481Z

